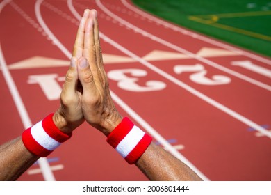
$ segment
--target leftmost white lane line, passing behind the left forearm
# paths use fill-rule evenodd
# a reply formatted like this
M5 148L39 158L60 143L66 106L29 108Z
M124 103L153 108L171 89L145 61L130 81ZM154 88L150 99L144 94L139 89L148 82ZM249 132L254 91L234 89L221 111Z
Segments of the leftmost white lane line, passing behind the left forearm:
M1 10L4 6L6 6L7 3L10 1L2 1L0 4L0 14ZM1 70L3 72L3 77L6 80L6 84L8 85L8 88L10 90L10 93L13 97L13 101L15 102L16 108L19 112L19 116L22 120L22 123L24 125L24 129L27 129L28 127L31 127L33 124L31 123L30 117L26 111L26 107L24 106L24 102L22 101L21 96L19 95L19 91L17 89L17 86L13 80L13 77L11 76L6 60L4 59L2 48L0 45L0 64L1 64ZM51 171L49 163L47 161L47 158L40 158L38 159L38 164L40 166L40 170L42 171L42 176L44 180L46 181L54 181L54 173Z

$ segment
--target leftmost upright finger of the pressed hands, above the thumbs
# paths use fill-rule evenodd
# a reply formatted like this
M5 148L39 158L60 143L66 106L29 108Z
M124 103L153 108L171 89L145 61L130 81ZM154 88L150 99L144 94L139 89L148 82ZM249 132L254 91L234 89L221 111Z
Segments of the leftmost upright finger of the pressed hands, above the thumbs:
M90 13L90 10L86 9L84 11L83 17L80 21L79 28L76 34L76 40L74 43L74 49L72 52L72 56L76 56L77 59L79 59L81 56L83 56L83 42L84 42L84 31L85 31L85 22L88 19L88 15Z

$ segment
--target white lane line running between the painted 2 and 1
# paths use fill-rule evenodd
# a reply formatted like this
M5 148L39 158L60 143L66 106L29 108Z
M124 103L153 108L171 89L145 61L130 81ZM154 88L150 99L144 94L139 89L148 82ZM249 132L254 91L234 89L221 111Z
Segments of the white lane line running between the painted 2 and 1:
M136 31L138 31L138 33L142 34L142 36L146 36L148 38L150 38L151 40L154 40L156 42L161 43L161 45L165 45L166 47L172 48L174 50L176 50L177 52L181 52L183 54L186 54L188 56L190 56L191 58L197 59L198 61L202 61L203 63L206 63L208 65L211 65L213 68L217 68L218 70L222 70L223 72L227 72L229 75L233 75L234 77L238 77L239 79L243 79L244 81L249 82L250 84L254 84L256 86L259 86L261 88L264 88L268 91L271 91L271 86L269 86L268 84L264 84L261 81L257 81L256 79L252 79L250 77L247 77L245 75L240 74L239 72L233 71L229 68L226 68L222 65L219 65L217 63L214 63L213 61L210 61L208 59L203 58L202 56L198 56L196 54L193 54L192 52L189 52L186 49L183 49L177 45L174 45L170 42L167 42L166 40L163 40L161 38L158 38L157 36L152 35L151 33L148 33L147 31L144 31L143 29L138 28L137 26L127 22L126 20L123 20L121 17L115 15L114 13L112 13L110 10L108 10L108 8L106 8L100 0L95 0L97 3L97 6L99 6L99 8L101 8L101 10L104 10L104 12L109 15L110 17L113 17L114 20L117 20L118 22L124 24L125 26L128 26L130 29L134 29Z

